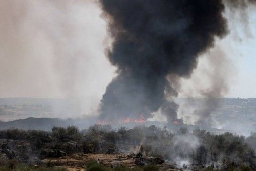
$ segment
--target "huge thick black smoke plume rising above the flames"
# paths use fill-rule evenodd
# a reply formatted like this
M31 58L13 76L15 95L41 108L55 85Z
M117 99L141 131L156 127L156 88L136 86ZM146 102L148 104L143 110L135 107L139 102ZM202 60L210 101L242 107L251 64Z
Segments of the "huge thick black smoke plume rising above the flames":
M107 50L118 75L101 100L101 119L152 117L161 108L177 119L177 95L168 75L189 77L198 56L228 32L220 0L100 0L113 44ZM166 105L169 106L166 106Z

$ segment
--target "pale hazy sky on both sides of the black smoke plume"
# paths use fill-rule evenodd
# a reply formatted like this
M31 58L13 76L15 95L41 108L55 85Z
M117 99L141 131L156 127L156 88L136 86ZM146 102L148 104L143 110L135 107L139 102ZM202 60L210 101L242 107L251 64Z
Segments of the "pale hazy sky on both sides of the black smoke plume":
M111 40L100 14L93 1L0 0L0 97L75 97L96 110L115 75L104 55ZM256 97L256 12L248 23L237 15L231 15L230 34L181 81L181 97L207 89L212 73L206 66L219 51L227 57L226 96Z

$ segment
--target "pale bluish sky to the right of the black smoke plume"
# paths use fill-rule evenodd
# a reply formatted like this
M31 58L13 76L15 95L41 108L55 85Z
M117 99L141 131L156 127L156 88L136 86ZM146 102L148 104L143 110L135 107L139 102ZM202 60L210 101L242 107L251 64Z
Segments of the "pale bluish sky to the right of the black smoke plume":
M222 50L229 60L229 67L223 74L226 77L229 91L225 97L256 97L256 11L255 7L248 9L248 20L242 13L226 12L229 19L230 33L224 39L217 41L214 50ZM207 89L207 66L209 54L203 54L191 79L184 81L183 89L190 91L196 87ZM223 62L220 58L220 63ZM225 66L223 66L225 68ZM189 84L193 85L189 87ZM190 89L189 89L190 88ZM193 91L192 90L192 91ZM185 92L186 92L185 91ZM196 92L196 91L195 91ZM198 96L194 94L194 96Z

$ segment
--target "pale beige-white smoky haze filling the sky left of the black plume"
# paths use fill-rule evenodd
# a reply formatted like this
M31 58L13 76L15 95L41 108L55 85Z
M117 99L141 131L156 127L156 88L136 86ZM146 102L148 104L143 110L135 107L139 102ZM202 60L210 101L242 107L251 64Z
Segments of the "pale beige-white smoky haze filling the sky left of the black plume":
M93 1L1 1L0 97L67 97L96 113L114 76L100 14Z

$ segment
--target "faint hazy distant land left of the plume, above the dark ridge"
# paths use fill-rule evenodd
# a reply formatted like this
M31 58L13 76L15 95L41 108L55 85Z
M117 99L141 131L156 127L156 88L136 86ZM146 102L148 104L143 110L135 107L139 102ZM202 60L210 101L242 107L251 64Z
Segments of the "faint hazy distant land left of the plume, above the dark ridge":
M0 98L0 121L34 118L68 118L81 116L78 99Z

